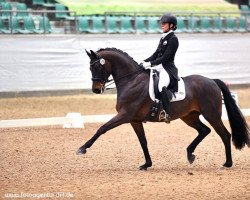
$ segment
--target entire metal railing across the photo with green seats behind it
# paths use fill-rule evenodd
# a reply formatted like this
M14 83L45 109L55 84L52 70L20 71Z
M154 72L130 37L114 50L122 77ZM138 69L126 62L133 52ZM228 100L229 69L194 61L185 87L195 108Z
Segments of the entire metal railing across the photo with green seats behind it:
M77 16L67 10L0 10L0 34L160 33L161 12ZM250 11L175 12L179 33L250 32Z

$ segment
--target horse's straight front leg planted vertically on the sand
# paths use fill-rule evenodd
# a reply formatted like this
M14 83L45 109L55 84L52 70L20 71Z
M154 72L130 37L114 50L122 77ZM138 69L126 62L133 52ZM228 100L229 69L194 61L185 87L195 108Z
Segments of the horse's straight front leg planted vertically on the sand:
M145 156L145 164L140 166L140 170L147 170L148 167L152 166L152 161L148 151L147 139L145 136L144 128L141 122L131 122L131 125L140 141L144 156Z

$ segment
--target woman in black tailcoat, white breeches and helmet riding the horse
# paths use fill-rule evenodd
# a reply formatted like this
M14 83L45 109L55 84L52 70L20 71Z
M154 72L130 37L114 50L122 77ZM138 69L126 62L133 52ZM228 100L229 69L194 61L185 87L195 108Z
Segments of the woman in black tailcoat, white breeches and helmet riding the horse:
M178 69L174 64L175 53L179 46L178 38L174 33L177 29L177 19L174 15L165 14L161 17L160 23L163 33L159 45L153 55L142 62L142 65L145 69L157 65L157 71L160 73L158 88L165 110L160 114L160 120L170 122L170 100L172 93L176 91L178 81ZM163 79L164 76L168 77L168 80Z

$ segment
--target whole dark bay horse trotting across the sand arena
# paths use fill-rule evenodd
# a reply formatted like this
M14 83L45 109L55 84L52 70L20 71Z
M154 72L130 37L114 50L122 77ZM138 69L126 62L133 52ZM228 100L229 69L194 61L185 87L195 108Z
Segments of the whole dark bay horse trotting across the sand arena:
M152 161L147 147L147 139L143 128L143 122L147 119L153 101L149 97L149 73L146 72L125 52L115 49L100 49L97 52L86 51L90 58L90 70L92 73L92 91L103 93L105 83L110 75L113 76L117 88L117 115L109 122L101 126L95 135L81 146L77 154L86 153L93 143L108 130L121 124L130 123L138 136L145 156L145 164L140 170L146 170L152 166ZM197 145L210 133L210 128L203 124L199 116L211 124L222 139L225 146L225 167L231 167L231 134L223 125L222 95L224 97L230 126L232 129L232 141L237 149L245 145L250 147L249 127L237 107L227 86L219 79L213 80L199 75L191 75L183 78L186 85L186 98L182 101L171 103L172 120L180 118L188 126L197 130L198 136L187 147L187 159L190 163L195 160L193 154ZM157 122L158 116L151 121Z

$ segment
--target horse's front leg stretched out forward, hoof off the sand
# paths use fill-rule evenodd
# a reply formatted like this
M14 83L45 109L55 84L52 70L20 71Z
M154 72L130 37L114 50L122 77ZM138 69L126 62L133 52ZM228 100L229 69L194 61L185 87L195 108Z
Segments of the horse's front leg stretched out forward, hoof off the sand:
M124 123L128 123L131 121L131 117L126 114L126 112L121 112L121 113L118 113L115 117L113 117L110 121L108 121L106 124L104 124L103 126L101 126L96 134L90 139L88 140L83 146L81 146L76 154L77 155L81 155L81 154L85 154L87 151L86 149L87 148L90 148L94 142L104 133L106 133L108 130L112 129L112 128L115 128L121 124L124 124Z

